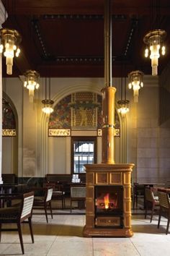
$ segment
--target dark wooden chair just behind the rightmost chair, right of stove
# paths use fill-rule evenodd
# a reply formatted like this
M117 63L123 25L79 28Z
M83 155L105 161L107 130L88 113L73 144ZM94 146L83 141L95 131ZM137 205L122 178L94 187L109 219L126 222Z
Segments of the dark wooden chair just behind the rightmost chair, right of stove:
M158 197L153 195L153 191L151 190L151 188L149 188L149 187L146 188L145 193L146 193L146 197L145 197L145 200L146 200L145 218L147 216L148 209L151 209L151 221L150 222L152 222L153 213L154 213L154 210L159 207L159 201L158 201Z

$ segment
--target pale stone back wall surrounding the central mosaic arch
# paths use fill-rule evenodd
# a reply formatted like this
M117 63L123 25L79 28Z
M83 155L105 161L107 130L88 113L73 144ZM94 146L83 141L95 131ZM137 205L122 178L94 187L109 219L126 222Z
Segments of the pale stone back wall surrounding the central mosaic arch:
M18 114L18 175L44 176L47 171L53 172L56 168L60 172L70 173L71 138L48 137L48 117L41 110L41 101L45 97L42 87L44 79L41 78L40 90L35 93L32 104L29 102L28 90L22 89L19 79L8 78L6 82L6 94L12 98ZM114 79L113 85L117 88L117 101L120 98L120 79ZM103 79L98 78L52 78L51 96L58 103L70 93L80 90L100 93L102 87ZM169 127L158 127L157 77L144 77L144 87L140 89L138 103L133 102L132 90L127 90L127 98L130 100L130 112L123 124L123 137L115 139L115 162L135 163L133 181L161 182L169 179L170 132ZM97 141L97 162L100 163L101 137ZM122 148L127 148L127 153L123 152L120 158ZM65 153L61 153L63 150ZM12 156L9 155L9 158Z

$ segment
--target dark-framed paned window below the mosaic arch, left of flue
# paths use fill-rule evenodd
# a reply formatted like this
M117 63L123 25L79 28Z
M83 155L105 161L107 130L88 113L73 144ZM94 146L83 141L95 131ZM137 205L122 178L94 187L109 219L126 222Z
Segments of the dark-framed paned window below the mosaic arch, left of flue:
M84 164L96 162L96 138L72 138L72 170L73 174L83 174Z

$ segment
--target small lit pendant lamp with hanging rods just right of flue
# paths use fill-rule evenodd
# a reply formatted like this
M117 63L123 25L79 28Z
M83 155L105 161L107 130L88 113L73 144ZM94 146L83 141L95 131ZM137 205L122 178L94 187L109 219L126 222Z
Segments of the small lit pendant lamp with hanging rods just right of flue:
M126 79L125 79L125 99L122 99L122 77L121 77L121 100L117 101L119 107L118 107L118 112L122 115L125 116L129 112L129 103L126 99Z

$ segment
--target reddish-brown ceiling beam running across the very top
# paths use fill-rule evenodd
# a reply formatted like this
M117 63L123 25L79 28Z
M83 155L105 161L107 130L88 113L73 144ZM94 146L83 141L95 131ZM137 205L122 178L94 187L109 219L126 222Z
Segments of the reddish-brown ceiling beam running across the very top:
M104 14L104 0L2 0L9 14ZM112 14L149 15L148 0L112 1ZM161 0L161 15L169 14L169 0Z

